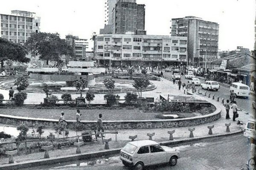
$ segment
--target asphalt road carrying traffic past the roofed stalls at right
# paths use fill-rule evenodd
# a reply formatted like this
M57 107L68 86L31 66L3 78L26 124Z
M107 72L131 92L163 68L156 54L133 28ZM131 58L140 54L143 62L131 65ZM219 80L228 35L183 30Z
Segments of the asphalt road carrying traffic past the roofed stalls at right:
M166 73L163 73L164 76L167 76L167 77L172 77L172 73L171 72L166 72ZM185 79L185 76L181 76L181 82L188 82L189 79ZM200 80L201 83L204 83L204 80ZM200 88L200 91L204 94L205 92L207 92L207 94L211 94L212 95L215 95L215 97L219 97L219 99L221 100L221 98L224 98L225 99L225 102L227 99L230 99L230 88L227 88L226 86L223 86L221 85L220 86L220 89L218 91L207 91L207 89L201 89L200 86L196 86L196 88ZM250 113L251 111L253 111L253 108L252 108L252 104L250 102L250 100L252 99L253 97L252 96L249 96L248 99L245 99L245 98L236 98L235 101L237 102L237 105L239 108L241 108L242 110Z

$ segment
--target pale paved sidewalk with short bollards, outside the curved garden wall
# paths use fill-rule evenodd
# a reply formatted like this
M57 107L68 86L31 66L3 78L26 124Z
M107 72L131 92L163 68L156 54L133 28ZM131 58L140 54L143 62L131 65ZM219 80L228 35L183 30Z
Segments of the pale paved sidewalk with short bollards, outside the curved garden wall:
M157 85L157 89L154 91L148 91L143 92L143 96L146 97L158 97L159 94L163 95L186 95L183 94L183 91L178 91L177 84L173 85L172 82L166 79L161 78L161 82L155 83ZM157 95L157 96L156 96ZM203 95L193 94L196 98L206 100L208 102L213 103L217 108L221 108L221 118L217 121L203 124L203 125L197 125L197 126L191 126L191 127L177 127L177 128L162 128L162 129L125 129L125 130L105 130L107 132L110 131L118 131L117 134L117 142L115 142L115 134L106 134L105 139L112 138L112 141L109 142L109 147L111 149L113 148L120 148L123 147L127 142L131 141L131 139L128 138L128 136L134 136L137 135L136 140L140 139L148 139L147 133L155 133L155 136L153 136L153 140L157 142L163 142L163 141L169 141L169 134L168 131L175 130L175 133L173 134L174 141L177 140L189 140L194 139L198 137L207 137L211 136L208 135L209 129L208 126L214 125L214 128L212 129L212 133L214 135L226 135L230 133L238 133L243 130L245 123L248 119L251 119L251 115L246 114L244 111L239 111L239 118L236 118L236 120L240 120L244 122L244 125L241 125L239 128L239 125L237 125L237 122L233 122L232 119L225 119L226 111L224 106L221 104L221 102L217 102L216 100L213 100L212 98L205 97ZM230 110L230 117L233 116L232 111ZM231 123L230 125L230 133L226 132L226 126L225 123ZM193 132L194 138L190 138L189 134L190 131L189 128L195 128L195 131ZM84 144L81 146L81 152L89 153L92 151L99 151L104 150L104 144L102 144L101 139L98 139L98 142L94 142L93 144ZM55 158L59 156L64 155L73 155L76 153L76 147L70 147L67 149L61 149L61 150L50 150L49 156L50 158ZM32 153L28 155L21 155L21 156L14 156L15 162L20 161L29 161L29 160L38 160L44 158L44 152L41 153ZM0 164L7 164L9 158L1 158Z

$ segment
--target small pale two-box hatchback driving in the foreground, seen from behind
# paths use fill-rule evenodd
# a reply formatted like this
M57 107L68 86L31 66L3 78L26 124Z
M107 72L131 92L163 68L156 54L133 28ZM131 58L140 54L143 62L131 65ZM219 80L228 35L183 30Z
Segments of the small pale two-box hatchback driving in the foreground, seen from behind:
M160 146L152 140L129 142L122 148L120 159L125 166L143 170L145 166L169 163L177 164L180 151L167 146Z

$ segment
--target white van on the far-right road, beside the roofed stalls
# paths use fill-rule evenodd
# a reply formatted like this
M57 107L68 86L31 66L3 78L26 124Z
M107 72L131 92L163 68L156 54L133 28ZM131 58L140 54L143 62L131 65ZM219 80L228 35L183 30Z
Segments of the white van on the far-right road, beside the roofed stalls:
M235 93L235 97L237 96L241 96L241 97L246 97L246 99L249 97L250 95L250 88L249 86L240 83L240 82L233 82L230 85L230 91L233 91Z

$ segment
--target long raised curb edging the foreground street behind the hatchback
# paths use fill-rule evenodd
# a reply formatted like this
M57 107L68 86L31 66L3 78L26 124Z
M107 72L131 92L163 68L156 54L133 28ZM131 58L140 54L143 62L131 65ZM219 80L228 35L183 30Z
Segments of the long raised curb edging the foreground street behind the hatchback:
M203 139L210 139L210 138L216 138L216 137L222 137L222 136L232 136L243 133L243 130L236 131L233 133L227 133L227 134L215 134L212 136L203 136L203 137L195 137L192 139L183 139L183 140L177 140L177 141L165 141L165 142L159 142L160 145L171 145L171 144L181 144L185 142L192 142L192 141L199 141ZM48 158L48 159L39 159L39 160L32 160L32 161L25 161L25 162L17 162L13 164L3 164L0 165L1 170L17 170L20 168L27 168L27 167L36 167L46 164L56 164L60 162L67 162L67 161L74 161L74 160L81 160L81 159L89 159L89 158L96 158L99 156L104 155L112 155L119 153L122 148L116 148L116 149L110 149L110 150L103 150L103 151L96 151L91 153L80 153L80 154L74 154L69 156L60 156L55 158Z

